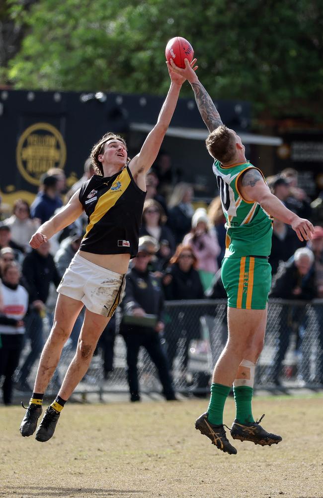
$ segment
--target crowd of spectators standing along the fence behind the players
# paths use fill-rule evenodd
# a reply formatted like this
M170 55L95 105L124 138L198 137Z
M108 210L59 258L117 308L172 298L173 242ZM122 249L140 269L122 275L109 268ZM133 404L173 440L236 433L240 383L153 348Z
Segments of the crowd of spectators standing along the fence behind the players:
M41 178L39 193L30 207L25 200L17 199L12 214L2 216L0 375L4 378L2 391L6 404L11 402L13 378L17 388L31 392L28 377L44 344L43 322L50 309L47 302L50 285L59 284L79 249L86 219L81 216L39 249L31 249L28 242L40 224L60 209L63 202L67 202L92 174L93 168L87 159L83 177L66 192L64 172L57 168L49 170ZM167 154L159 158L156 167L147 175L147 198L140 231L141 249L130 265L120 308L121 325L117 331L125 340L133 401L140 399L137 362L141 346L157 368L165 398L174 399L171 374L179 344L183 350L181 367L185 375L190 341L199 337L197 315L193 319L189 309L181 309L167 323L163 312L164 300L196 300L225 295L219 271L226 239L220 197L216 196L209 205L199 205L195 209L192 185L179 182L169 189L169 182L173 181L174 176ZM298 186L297 172L290 168L269 177L267 183L289 209L316 224L313 240L306 244L297 239L289 226L274 220L269 259L273 275L271 296L291 300L323 298L323 195L311 202ZM21 303L18 297L14 297L18 294ZM25 295L28 299L22 303ZM290 317L299 326L304 325L304 317L296 316L295 306L283 309L279 318L278 353L270 374L275 383L279 383L282 361L289 344ZM316 313L321 323L319 340L323 351L322 306L316 308ZM134 321L130 315L133 315ZM147 315L151 320L147 319ZM53 317L49 320L51 322ZM69 341L73 348L77 346L81 322L80 315ZM108 378L113 369L111 351L115 335L116 320L112 320L99 342L104 354L104 378ZM165 347L161 344L161 337ZM22 358L22 349L28 343L29 353ZM323 383L323 354L318 362L320 378L317 380Z

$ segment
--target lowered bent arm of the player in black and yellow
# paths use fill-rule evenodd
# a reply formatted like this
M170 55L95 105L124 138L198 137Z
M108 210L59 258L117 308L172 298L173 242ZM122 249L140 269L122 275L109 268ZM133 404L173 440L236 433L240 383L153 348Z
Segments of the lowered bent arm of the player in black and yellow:
M37 232L30 239L30 246L33 249L39 248L44 242L53 237L54 234L68 227L82 214L83 207L79 200L78 190L64 206L59 213L53 216L50 220L43 223Z

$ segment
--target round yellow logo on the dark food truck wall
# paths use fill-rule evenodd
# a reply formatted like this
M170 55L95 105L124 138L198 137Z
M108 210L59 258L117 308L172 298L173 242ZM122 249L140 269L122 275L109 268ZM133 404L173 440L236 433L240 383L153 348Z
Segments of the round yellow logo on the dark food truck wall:
M40 177L50 168L64 168L64 138L52 124L32 124L19 138L16 159L24 179L33 185L39 185Z

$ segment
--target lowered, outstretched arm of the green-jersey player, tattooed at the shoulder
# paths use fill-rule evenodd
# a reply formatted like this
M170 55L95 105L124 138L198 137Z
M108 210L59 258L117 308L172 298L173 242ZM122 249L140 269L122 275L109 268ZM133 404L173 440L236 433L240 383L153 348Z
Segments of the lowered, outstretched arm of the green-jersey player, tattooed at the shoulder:
M248 168L238 179L238 190L242 199L257 202L270 214L295 230L300 241L312 239L313 225L287 209L284 204L270 192L261 173L255 168Z

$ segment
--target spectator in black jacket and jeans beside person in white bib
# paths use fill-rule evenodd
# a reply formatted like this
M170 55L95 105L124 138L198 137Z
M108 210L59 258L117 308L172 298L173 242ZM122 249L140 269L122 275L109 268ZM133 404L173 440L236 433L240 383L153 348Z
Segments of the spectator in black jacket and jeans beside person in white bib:
M50 283L53 282L57 287L61 281L49 250L49 242L33 249L25 256L22 265L22 274L28 285L31 303L25 318L26 336L30 340L31 349L20 367L17 383L17 388L25 391L31 391L27 378L44 346L43 318L46 315Z

